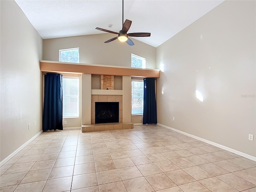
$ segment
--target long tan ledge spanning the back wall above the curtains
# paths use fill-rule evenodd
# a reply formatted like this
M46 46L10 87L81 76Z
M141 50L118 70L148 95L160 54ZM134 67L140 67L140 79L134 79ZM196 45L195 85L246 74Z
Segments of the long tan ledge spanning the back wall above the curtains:
M159 78L159 69L140 69L132 67L94 65L82 63L66 63L58 61L40 61L40 70L42 72L58 73L85 73L96 75L115 75L115 76L133 76L133 77L152 77Z

